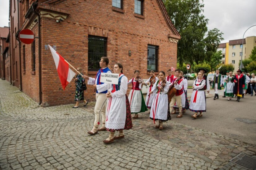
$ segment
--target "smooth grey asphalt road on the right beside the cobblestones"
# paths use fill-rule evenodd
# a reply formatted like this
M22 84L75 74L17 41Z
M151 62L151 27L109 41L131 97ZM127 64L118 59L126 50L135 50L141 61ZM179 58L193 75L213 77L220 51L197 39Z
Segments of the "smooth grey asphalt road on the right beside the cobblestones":
M254 105L256 96L246 95L239 103L235 100L236 98L227 101L227 97L223 98L222 96L213 100L211 97L206 100L206 113L203 113L203 117L193 119L191 117L193 112L187 110L182 118L176 118L177 114L172 115L172 121L255 145L256 118ZM245 119L249 123L236 121L239 118Z

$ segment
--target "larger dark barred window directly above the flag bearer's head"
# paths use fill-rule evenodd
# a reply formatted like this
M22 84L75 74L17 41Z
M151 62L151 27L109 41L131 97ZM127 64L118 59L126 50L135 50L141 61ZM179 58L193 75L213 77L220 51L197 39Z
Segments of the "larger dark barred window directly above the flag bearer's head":
M107 57L107 38L88 36L88 70L98 71L101 57Z

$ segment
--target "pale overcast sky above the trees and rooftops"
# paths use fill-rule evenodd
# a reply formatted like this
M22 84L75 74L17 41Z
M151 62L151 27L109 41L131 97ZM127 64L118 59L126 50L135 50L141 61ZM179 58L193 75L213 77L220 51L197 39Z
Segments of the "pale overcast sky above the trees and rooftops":
M256 0L204 0L204 15L209 19L209 29L218 28L224 40L242 39L247 28L256 25ZM0 0L0 27L8 26L9 0ZM256 26L247 36L256 36Z

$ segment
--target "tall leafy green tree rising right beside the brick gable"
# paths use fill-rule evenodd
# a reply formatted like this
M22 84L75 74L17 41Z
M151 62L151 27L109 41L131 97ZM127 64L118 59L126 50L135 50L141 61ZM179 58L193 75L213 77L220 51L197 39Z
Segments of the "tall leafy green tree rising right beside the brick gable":
M178 42L178 62L181 64L210 61L222 40L223 33L217 28L208 31L208 19L203 15L202 1L163 0L163 2L170 19L181 35Z

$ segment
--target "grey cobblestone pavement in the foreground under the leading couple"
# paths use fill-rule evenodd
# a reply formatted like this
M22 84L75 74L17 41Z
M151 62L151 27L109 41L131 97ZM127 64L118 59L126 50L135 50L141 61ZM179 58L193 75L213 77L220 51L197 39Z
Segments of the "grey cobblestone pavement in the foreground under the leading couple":
M155 129L148 112L106 145L108 132L86 133L94 105L42 108L0 80L0 169L245 169L229 160L255 157L255 145L174 121Z

